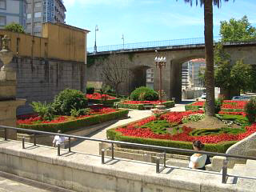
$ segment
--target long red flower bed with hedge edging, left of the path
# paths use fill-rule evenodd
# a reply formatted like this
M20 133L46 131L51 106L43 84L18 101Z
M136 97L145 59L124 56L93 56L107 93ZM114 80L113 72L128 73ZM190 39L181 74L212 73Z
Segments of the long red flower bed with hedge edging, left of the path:
M128 110L115 110L107 107L93 106L90 114L82 115L77 118L71 116L56 116L52 121L43 121L40 117L30 117L18 119L17 123L18 127L30 130L50 132L62 130L62 132L66 132L83 126L91 126L117 118L125 118L128 112Z

